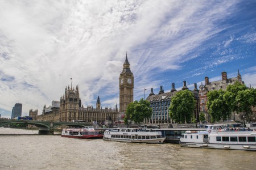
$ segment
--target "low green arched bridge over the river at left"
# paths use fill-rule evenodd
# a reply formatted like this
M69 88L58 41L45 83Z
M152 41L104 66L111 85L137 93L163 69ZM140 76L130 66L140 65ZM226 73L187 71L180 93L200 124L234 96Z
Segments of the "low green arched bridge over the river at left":
M34 120L10 120L5 118L0 118L0 127L11 125L11 124L24 124L32 125L39 128L38 134L53 134L54 129L58 126L75 126L84 127L91 124L84 122L53 122L53 121L34 121Z

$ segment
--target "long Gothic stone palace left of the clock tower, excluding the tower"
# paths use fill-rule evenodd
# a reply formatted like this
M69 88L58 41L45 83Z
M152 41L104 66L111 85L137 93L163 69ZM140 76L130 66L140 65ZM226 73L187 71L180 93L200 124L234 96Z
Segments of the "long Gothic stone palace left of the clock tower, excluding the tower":
M71 122L72 120L84 120L88 123L98 122L104 123L106 117L111 117L113 121L117 121L118 108L117 105L114 109L100 107L100 97L96 103L96 108L89 106L84 108L81 104L79 95L79 87L65 88L65 95L60 97L59 107L53 104L46 108L44 106L43 114L38 116L38 120L46 121L64 121Z

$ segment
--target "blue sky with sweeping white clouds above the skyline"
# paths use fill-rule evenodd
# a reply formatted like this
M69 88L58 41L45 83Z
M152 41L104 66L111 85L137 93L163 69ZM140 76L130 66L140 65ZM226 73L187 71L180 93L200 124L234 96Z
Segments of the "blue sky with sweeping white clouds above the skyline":
M0 1L0 114L22 115L79 86L82 105L119 107L126 52L134 100L183 81L236 77L256 88L256 1ZM147 89L144 91L144 89Z

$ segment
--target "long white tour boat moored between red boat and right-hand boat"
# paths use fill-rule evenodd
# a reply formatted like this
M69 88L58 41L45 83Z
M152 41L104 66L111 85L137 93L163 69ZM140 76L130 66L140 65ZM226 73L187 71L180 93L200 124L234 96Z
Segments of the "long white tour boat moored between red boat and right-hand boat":
M116 128L104 132L104 140L136 143L163 143L161 131L151 131L147 128Z

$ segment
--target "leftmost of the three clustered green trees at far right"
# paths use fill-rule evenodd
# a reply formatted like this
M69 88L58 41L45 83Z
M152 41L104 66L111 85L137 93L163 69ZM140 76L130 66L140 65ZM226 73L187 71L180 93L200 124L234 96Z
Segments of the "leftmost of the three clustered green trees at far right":
M209 91L207 94L207 107L212 122L226 120L231 114L229 105L224 100L225 93L226 91L220 89Z

